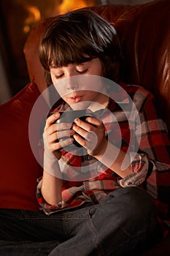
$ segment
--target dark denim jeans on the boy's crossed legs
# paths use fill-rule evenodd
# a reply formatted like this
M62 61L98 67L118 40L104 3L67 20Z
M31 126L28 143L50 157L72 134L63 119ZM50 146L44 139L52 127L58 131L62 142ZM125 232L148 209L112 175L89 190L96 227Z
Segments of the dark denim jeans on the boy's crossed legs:
M0 209L0 229L1 256L139 255L161 236L152 199L138 187L50 216Z

